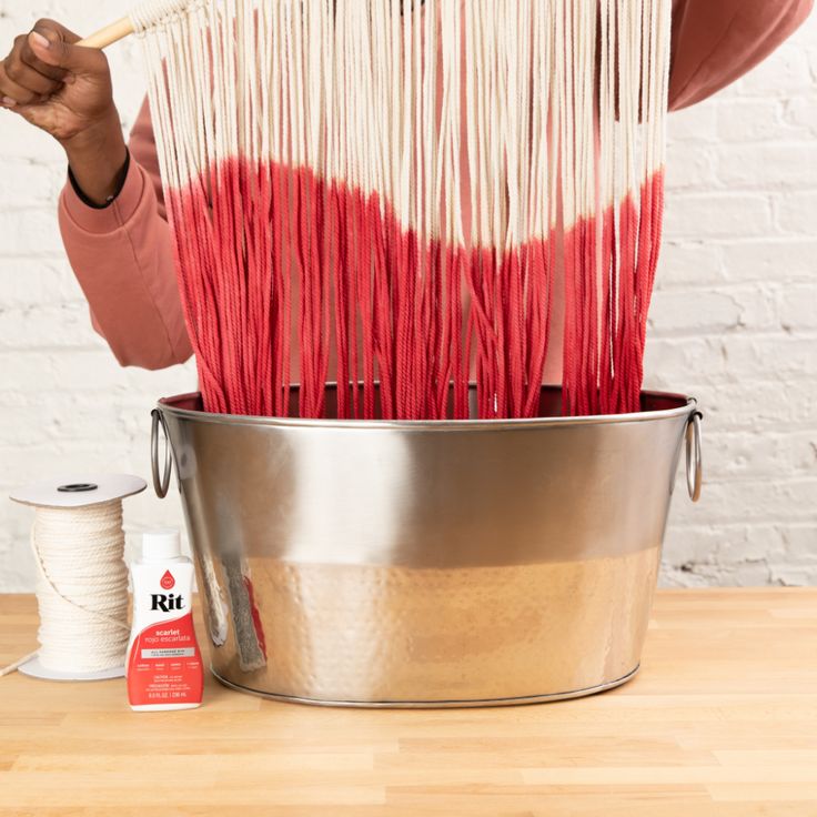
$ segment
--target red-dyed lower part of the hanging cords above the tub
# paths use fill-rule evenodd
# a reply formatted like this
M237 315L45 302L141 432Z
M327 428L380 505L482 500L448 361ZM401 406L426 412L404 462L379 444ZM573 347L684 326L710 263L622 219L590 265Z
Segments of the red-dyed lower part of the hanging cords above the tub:
M208 411L291 413L295 339L301 416L467 417L472 353L477 415L535 416L559 241L564 411L638 410L660 172L644 183L638 208L627 198L617 212L505 252L425 241L377 194L307 169L229 161L171 191L169 204ZM327 380L339 384L334 407Z

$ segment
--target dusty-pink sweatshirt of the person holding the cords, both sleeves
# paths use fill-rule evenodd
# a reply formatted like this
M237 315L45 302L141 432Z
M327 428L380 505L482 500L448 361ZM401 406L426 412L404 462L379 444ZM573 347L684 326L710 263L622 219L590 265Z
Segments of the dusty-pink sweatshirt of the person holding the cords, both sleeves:
M808 16L814 0L673 0L669 105L699 102L754 68ZM97 331L122 365L162 369L192 354L173 269L147 103L131 167L104 210L68 184L60 226Z

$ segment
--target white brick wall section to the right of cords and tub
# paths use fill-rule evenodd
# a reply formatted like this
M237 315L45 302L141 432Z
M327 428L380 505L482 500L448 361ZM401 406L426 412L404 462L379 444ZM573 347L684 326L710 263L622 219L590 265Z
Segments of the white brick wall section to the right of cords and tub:
M817 583L817 17L673 114L647 385L695 394L707 484L678 485L665 584Z

